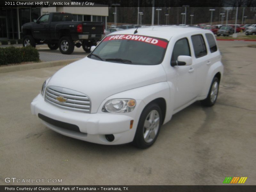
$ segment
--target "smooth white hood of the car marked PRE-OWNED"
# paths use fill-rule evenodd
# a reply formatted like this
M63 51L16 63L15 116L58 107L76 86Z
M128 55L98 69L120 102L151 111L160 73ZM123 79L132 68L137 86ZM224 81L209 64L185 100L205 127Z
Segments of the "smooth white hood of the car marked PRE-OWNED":
M113 94L163 81L166 74L161 64L132 65L85 57L57 71L47 86L86 94L91 99L91 112L96 113L102 101Z

